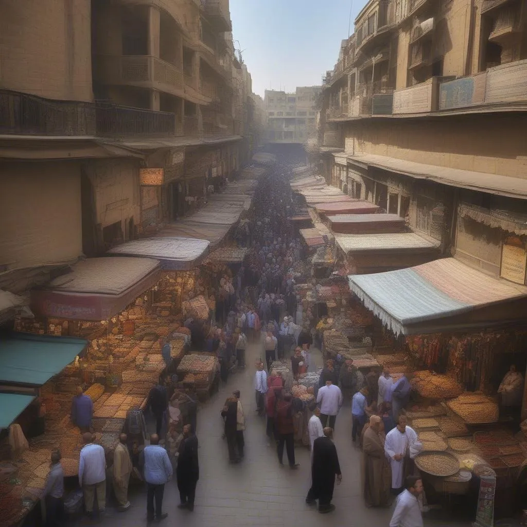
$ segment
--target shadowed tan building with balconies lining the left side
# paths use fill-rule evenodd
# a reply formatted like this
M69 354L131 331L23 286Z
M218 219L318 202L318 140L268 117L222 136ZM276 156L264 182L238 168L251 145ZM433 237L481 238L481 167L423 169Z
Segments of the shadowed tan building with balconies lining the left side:
M250 159L250 76L230 32L228 0L2 3L9 287L180 218Z

